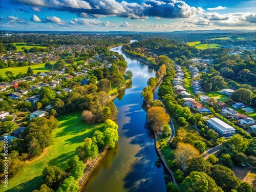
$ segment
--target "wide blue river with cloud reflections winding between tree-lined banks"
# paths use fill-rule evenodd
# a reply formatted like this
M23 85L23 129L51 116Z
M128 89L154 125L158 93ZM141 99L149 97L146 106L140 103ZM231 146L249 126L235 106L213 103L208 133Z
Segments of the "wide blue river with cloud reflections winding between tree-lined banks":
M123 192L123 191L166 191L165 170L155 165L157 154L154 137L145 125L146 112L141 91L147 86L155 70L141 61L122 53L121 47L112 51L122 54L127 62L127 70L133 72L132 82L114 100L119 111L119 140L94 170L83 192ZM157 99L157 92L154 98Z

